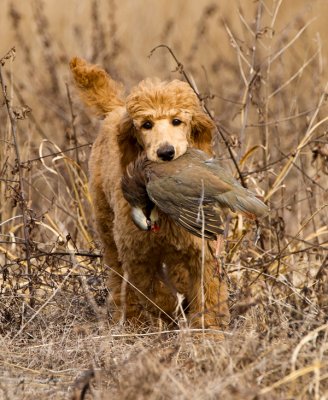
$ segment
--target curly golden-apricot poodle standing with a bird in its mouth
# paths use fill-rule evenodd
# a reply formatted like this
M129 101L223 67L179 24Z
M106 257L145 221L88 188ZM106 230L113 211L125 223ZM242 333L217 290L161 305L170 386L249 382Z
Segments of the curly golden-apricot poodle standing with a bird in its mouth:
M158 233L138 230L120 184L127 165L142 151L156 162L168 149L172 158L189 146L211 152L213 122L185 82L146 79L125 98L123 87L100 67L79 58L70 67L86 105L104 117L89 162L90 190L111 271L113 319L173 321L180 293L190 326L222 327L229 316L227 289L210 244L204 246L202 268L202 240L165 215L160 215Z

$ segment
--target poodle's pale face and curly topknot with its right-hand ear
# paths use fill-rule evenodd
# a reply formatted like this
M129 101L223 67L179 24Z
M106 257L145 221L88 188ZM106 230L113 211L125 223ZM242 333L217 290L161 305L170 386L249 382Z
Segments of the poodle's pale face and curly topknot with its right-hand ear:
M131 91L126 109L124 126L151 161L173 160L190 146L210 149L214 124L185 82L146 79Z

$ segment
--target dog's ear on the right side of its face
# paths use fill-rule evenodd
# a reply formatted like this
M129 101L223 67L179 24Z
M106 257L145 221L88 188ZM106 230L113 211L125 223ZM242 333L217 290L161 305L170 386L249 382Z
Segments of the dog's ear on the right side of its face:
M209 116L202 111L195 113L191 120L192 145L211 154L214 129L215 124Z

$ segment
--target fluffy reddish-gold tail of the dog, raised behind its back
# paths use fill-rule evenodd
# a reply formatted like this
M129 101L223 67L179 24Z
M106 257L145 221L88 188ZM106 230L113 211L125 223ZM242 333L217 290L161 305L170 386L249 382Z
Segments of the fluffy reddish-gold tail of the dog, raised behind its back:
M84 103L98 116L104 116L124 104L123 86L97 65L74 57L70 68Z

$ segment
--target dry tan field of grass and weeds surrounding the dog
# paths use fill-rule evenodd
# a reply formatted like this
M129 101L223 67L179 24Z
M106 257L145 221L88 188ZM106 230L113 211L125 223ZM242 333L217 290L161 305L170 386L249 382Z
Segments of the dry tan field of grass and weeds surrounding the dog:
M327 15L326 0L1 1L1 400L328 399ZM88 192L101 121L75 55L127 91L188 78L217 157L269 204L260 231L231 223L224 340L111 322Z

